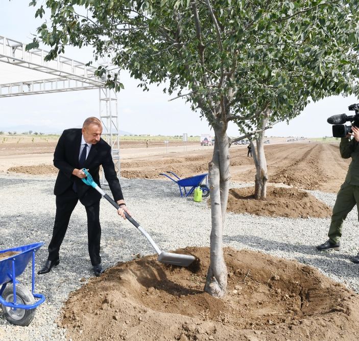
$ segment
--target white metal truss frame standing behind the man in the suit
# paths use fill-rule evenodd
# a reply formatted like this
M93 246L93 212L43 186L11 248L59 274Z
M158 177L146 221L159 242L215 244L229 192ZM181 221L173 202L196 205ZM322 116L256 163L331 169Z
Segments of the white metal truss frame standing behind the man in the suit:
M0 84L0 98L35 95L54 92L99 89L100 120L103 123L103 138L111 146L117 175L120 172L119 130L117 95L105 87L105 77L95 76L94 66L58 56L56 60L44 61L47 51L36 48L26 51L26 44L0 36L0 64L8 63L31 70L36 80L14 81ZM102 182L105 184L103 176Z

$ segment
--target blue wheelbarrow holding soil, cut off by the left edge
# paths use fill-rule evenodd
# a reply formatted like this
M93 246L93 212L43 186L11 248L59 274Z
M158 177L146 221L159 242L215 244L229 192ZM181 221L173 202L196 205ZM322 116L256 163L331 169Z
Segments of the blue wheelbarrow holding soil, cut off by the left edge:
M45 301L35 294L35 252L43 242L0 250L0 303L5 318L17 326L28 326L35 316L35 309ZM20 276L32 258L32 291L20 285ZM7 286L7 284L12 285ZM35 300L36 299L36 300Z

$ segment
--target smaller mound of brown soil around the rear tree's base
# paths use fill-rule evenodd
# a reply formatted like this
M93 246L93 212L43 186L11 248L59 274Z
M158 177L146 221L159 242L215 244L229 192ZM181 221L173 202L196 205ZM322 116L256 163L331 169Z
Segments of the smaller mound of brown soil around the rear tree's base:
M230 189L227 211L258 216L289 218L326 218L331 208L312 194L296 188L267 187L267 198L256 200L254 187Z

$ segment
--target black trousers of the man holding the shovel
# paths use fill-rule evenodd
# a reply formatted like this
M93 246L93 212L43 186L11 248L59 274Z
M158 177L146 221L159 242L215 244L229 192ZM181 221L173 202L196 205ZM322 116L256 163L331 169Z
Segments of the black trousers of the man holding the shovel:
M71 214L78 201L79 197L72 188L56 196L56 216L53 236L49 244L49 260L59 258L60 246L65 237ZM91 264L98 265L101 263L100 200L90 206L85 206L85 208L87 214L88 253L90 255Z

